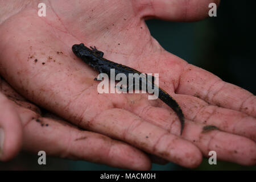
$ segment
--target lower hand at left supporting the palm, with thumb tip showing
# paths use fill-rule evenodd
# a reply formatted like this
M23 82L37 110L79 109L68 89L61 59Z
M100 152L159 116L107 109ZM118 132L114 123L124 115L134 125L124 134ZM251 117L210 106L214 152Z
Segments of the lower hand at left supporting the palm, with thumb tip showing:
M7 97L6 97L7 96ZM147 156L137 148L84 131L31 104L0 77L0 127L4 132L0 160L22 150L119 168L141 169ZM106 155L107 154L107 155ZM148 165L147 165L148 166Z

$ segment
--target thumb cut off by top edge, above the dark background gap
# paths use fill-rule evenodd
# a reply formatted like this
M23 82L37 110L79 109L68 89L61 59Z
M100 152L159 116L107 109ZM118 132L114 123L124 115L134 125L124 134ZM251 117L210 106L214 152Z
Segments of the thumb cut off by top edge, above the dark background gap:
M137 10L142 16L155 16L157 18L174 21L195 21L208 16L209 4L218 0L158 0L137 1Z

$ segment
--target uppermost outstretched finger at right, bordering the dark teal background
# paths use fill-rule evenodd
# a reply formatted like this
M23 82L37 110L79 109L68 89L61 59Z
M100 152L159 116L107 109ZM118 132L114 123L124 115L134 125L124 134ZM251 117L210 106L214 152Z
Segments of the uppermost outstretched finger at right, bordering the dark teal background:
M253 94L190 64L184 68L176 92L196 96L209 104L256 117L256 97Z

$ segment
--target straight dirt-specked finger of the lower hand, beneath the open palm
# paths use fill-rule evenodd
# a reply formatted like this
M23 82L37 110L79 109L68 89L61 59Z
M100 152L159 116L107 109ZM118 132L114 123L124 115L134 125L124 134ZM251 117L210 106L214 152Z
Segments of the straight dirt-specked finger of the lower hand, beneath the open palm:
M18 106L24 125L23 150L45 151L61 158L87 160L136 170L151 168L150 159L138 149L101 134L81 131L61 120L40 117Z

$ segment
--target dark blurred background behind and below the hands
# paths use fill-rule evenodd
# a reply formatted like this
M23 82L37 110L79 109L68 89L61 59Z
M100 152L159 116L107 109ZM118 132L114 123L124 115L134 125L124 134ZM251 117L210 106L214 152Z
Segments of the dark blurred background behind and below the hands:
M195 23L147 20L152 36L169 52L214 73L222 80L256 93L256 1L221 1L217 17ZM0 162L0 170L118 170L105 165L47 157L39 166L38 156L20 153L14 160ZM190 170L176 164L153 164L152 170ZM238 164L208 159L193 170L256 170Z

